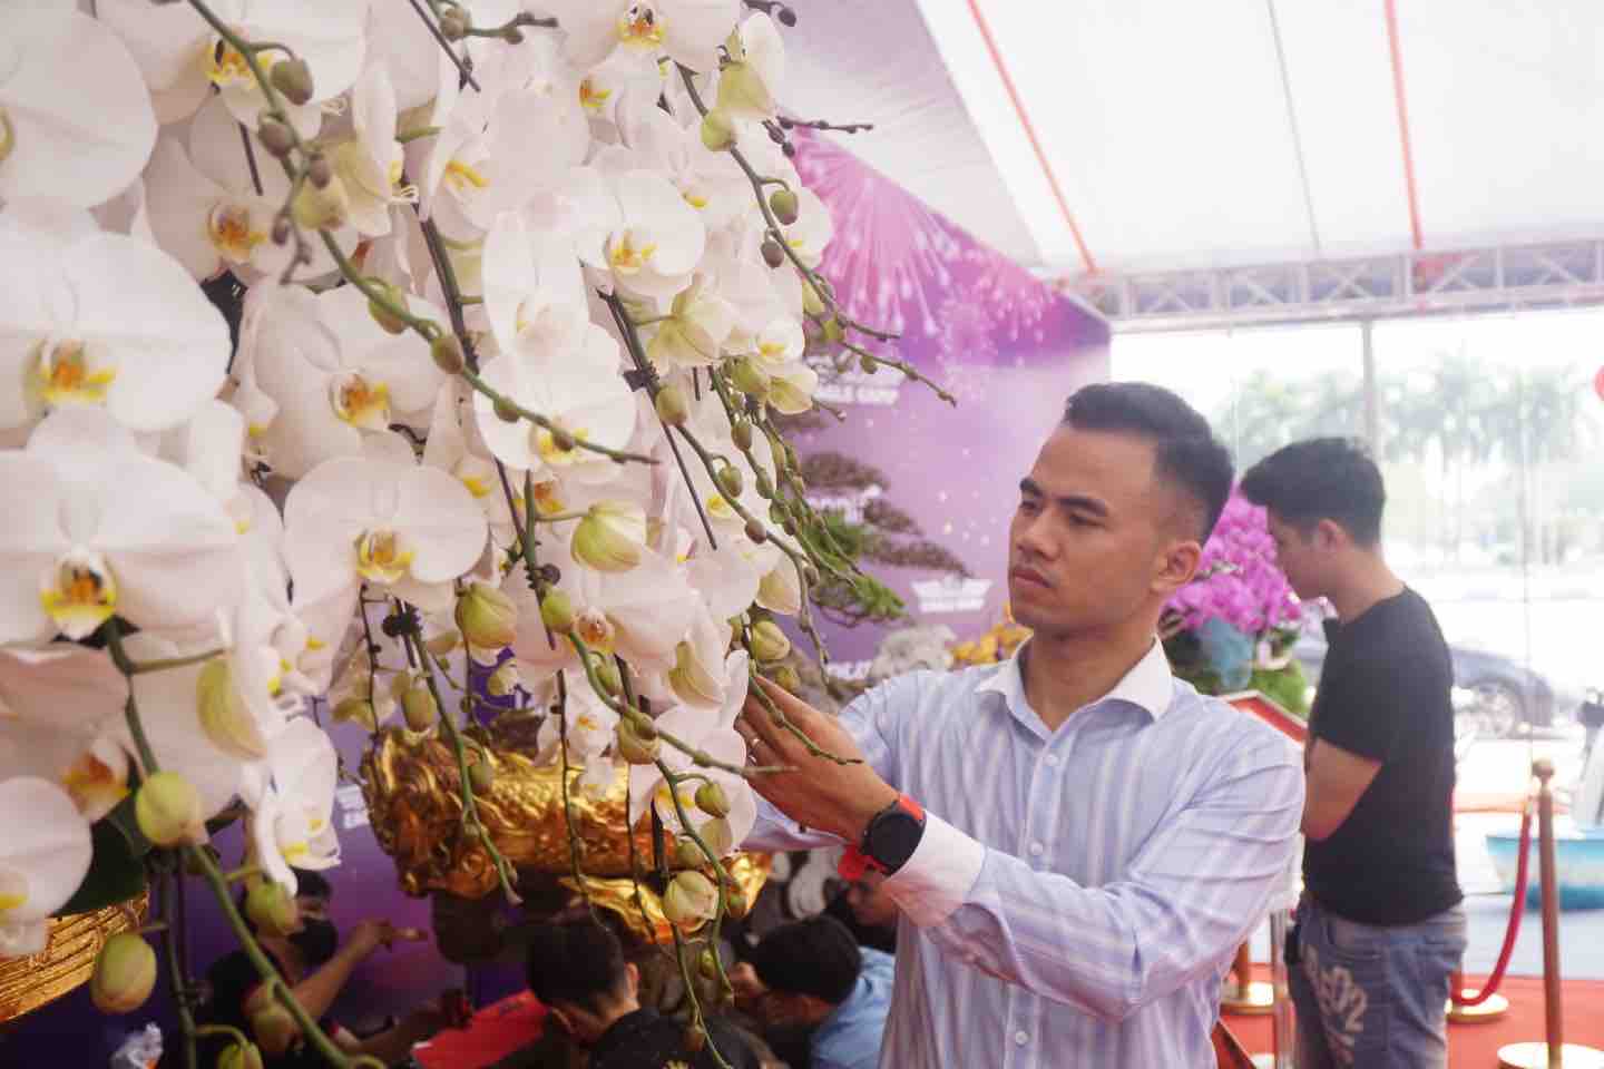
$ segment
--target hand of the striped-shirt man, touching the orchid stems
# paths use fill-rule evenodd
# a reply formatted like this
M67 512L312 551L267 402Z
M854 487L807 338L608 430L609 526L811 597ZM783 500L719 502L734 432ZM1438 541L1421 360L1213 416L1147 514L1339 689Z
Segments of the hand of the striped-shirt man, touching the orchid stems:
M794 769L754 776L752 789L802 827L831 832L857 845L869 819L897 801L897 789L863 761L858 745L834 716L818 712L768 680L754 678L752 686L762 688L820 750L852 761L840 764L810 755L800 739L775 721L755 694L747 694L735 729L746 739L749 761Z

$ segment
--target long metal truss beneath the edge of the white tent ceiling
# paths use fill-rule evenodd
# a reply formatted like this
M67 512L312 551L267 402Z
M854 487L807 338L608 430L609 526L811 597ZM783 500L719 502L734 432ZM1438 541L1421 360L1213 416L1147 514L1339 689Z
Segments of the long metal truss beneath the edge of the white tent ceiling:
M1604 303L1604 240L1084 277L1060 284L1115 332Z

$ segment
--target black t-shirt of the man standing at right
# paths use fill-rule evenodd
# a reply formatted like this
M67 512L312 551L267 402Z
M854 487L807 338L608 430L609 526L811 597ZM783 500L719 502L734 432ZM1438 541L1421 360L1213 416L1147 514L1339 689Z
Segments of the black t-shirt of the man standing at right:
M1362 925L1413 925L1463 898L1453 867L1453 660L1413 590L1327 625L1310 736L1381 761L1343 825L1304 849L1304 885Z

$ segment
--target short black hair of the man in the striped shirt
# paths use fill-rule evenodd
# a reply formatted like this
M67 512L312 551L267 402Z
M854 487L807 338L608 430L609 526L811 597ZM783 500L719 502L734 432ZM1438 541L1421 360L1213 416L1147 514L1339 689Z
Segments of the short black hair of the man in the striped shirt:
M1230 497L1235 468L1197 409L1152 383L1094 383L1070 394L1063 425L1150 439L1156 450L1155 473L1192 498L1198 542L1208 542Z

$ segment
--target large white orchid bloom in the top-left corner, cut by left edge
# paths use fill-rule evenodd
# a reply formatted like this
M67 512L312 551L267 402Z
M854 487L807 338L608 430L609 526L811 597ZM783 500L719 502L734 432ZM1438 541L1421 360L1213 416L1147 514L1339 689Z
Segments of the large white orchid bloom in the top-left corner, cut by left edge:
M47 197L88 208L138 178L154 144L151 98L111 29L67 3L6 6L0 202Z

